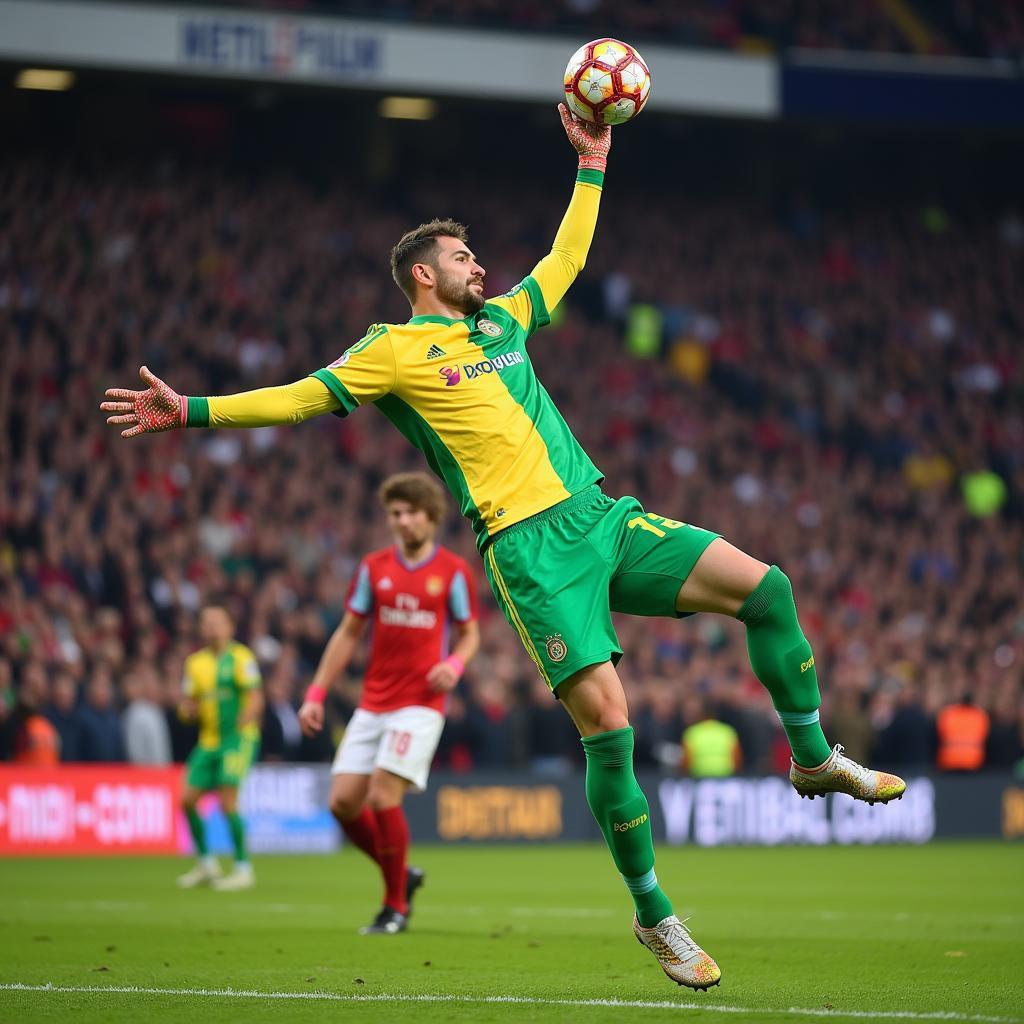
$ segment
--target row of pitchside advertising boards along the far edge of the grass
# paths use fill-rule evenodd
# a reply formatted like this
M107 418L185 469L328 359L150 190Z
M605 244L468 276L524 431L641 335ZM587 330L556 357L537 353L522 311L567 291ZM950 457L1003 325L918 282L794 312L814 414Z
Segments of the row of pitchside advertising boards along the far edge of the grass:
M674 846L927 843L1024 839L1024 783L1004 775L916 776L888 806L800 800L785 779L641 775L657 842ZM178 809L182 769L129 765L0 766L0 856L189 854ZM328 853L341 845L327 810L327 765L260 764L241 794L254 853ZM419 843L601 842L582 775L436 772L406 804ZM214 797L200 804L211 849L230 852Z

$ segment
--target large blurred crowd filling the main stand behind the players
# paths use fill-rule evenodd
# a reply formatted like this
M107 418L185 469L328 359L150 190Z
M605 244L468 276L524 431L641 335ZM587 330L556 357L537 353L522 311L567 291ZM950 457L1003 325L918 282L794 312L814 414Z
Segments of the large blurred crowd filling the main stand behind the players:
M506 290L547 250L561 200L517 183L513 215L493 182L452 187L476 211L490 292ZM181 759L182 660L216 598L263 668L263 757L330 757L358 666L330 734L303 739L295 708L359 557L388 542L377 484L421 457L375 410L125 441L97 403L140 364L190 394L284 383L403 321L387 249L411 215L446 212L445 194L409 206L344 180L0 164L5 756ZM608 493L787 571L826 733L857 760L942 764L943 716L966 708L980 764L1024 755L1022 282L1024 222L994 205L779 213L623 188L532 343ZM479 565L454 508L444 543ZM480 582L482 650L439 763L581 762ZM744 770L786 765L738 624L617 625L641 763L678 765L684 727L712 714Z

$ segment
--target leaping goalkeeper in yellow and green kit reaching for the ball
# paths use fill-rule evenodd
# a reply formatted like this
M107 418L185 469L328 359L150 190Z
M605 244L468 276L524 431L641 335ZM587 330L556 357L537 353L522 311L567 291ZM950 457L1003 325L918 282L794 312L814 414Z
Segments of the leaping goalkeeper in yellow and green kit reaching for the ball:
M101 408L133 437L184 426L298 423L375 404L458 498L502 610L580 730L587 800L633 896L637 938L674 981L707 988L721 972L654 874L611 612L715 611L742 622L754 672L790 737L790 777L802 796L885 802L905 785L825 741L814 657L784 573L716 534L645 511L635 498L606 497L600 470L534 373L526 342L583 269L611 142L609 129L560 111L580 155L572 199L551 252L508 294L485 299L484 270L465 228L432 221L391 254L413 309L407 324L372 327L330 366L284 387L191 398L143 367L146 390L111 389Z

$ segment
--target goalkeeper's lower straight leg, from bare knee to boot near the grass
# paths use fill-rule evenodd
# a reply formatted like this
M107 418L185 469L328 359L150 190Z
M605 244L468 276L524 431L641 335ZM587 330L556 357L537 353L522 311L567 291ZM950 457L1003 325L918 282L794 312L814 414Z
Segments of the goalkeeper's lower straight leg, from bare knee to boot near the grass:
M654 873L650 808L633 773L633 729L618 675L605 662L570 676L557 692L583 738L587 803L633 897L637 938L673 981L718 984L718 965L689 937Z

